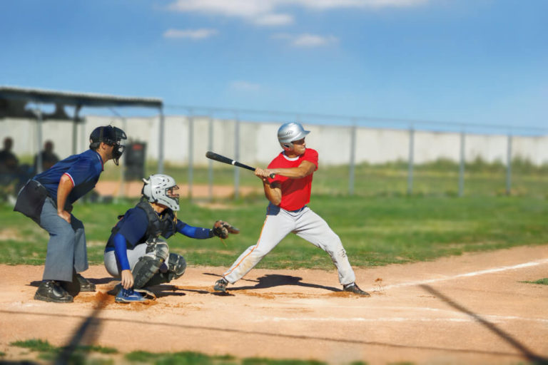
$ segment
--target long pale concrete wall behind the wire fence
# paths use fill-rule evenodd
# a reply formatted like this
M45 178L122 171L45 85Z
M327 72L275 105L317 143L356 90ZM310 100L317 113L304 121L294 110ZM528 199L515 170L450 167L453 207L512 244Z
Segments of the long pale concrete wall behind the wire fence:
M147 143L148 159L158 158L159 117L153 118L111 118L86 116L86 123L78 125L76 151L88 148L88 136L99 125L112 124L126 131L133 141ZM168 163L188 163L189 118L170 115L165 117L164 158ZM206 165L205 152L210 149L210 120L206 117L193 118L193 160L195 165ZM240 121L239 143L235 145L235 121L213 119L213 147L216 153L229 157L239 156L248 164L266 165L280 152L276 131L280 123ZM60 158L72 154L72 123L47 121L43 123L42 139L53 140L55 151ZM320 153L320 163L325 165L347 164L350 161L352 128L335 125L305 125L311 133L307 144ZM14 138L16 155L34 155L36 149L36 122L34 120L0 120L0 140L6 136ZM460 133L430 132L417 130L414 133L415 163L426 163L446 158L460 159ZM395 129L356 129L356 163L385 163L407 160L409 157L409 130ZM507 135L465 136L465 158L467 161L482 158L487 162L506 163ZM236 149L238 148L238 150ZM238 152L237 152L238 151ZM530 160L535 165L548 163L548 135L513 136L512 156Z

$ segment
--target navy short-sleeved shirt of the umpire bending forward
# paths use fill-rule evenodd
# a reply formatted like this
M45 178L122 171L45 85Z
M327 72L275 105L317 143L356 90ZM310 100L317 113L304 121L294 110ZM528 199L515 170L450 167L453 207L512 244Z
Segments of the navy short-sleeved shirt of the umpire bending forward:
M79 155L72 155L51 166L44 173L36 175L33 179L44 185L50 197L57 202L57 188L61 176L71 178L72 187L68 194L67 202L76 202L80 197L95 187L99 176L103 172L103 159L98 152L86 150Z

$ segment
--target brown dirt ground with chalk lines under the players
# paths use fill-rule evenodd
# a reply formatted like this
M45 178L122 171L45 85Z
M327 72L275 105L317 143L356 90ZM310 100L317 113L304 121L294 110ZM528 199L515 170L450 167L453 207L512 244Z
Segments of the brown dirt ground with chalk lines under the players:
M43 267L0 265L0 351L12 341L97 344L121 352L199 351L331 364L517 364L548 359L548 245L356 270L370 298L340 292L335 271L252 270L212 293L223 267L188 267L155 302L116 304L98 286L73 304L32 299Z

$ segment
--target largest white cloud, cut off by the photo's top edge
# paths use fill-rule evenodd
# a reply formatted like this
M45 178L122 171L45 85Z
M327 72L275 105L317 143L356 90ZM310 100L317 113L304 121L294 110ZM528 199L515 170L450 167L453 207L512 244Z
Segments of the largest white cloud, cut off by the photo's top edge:
M176 0L168 6L172 11L233 16L259 26L280 26L293 23L293 16L280 14L290 6L305 9L381 8L425 4L430 0Z

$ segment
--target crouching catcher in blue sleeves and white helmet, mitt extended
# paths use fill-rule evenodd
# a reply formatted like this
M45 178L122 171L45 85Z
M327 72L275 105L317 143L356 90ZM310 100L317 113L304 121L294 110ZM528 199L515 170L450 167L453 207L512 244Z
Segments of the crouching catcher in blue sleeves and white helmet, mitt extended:
M169 252L168 239L182 233L198 240L218 236L227 238L238 229L218 220L212 229L192 227L178 220L179 187L169 175L156 174L143 179L141 201L118 217L111 237L105 247L105 267L113 277L121 278L116 302L144 302L143 294L151 294L145 287L151 287L185 273L183 256ZM143 293L143 294L141 294Z

